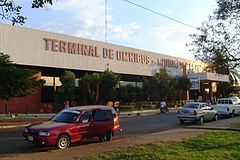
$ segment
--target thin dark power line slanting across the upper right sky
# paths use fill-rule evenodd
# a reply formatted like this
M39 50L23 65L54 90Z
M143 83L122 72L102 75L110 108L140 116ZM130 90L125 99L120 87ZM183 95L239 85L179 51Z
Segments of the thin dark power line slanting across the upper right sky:
M162 17L164 17L164 18L167 18L167 19L170 19L170 20L175 21L175 22L177 22L177 23L180 23L180 24L182 24L182 25L185 25L185 26L187 26L187 27L197 29L196 27L194 27L194 26L192 26L192 25L190 25L190 24L187 24L187 23L184 23L184 22L179 21L179 20L177 20L177 19L171 18L171 17L169 17L169 16L166 16L166 15L164 15L164 14L162 14L162 13L156 12L156 11L150 9L150 8L144 7L144 6L139 5L139 4L137 4L137 3L134 3L134 2L131 2L131 1L128 1L128 0L123 0L123 1L125 1L125 2L127 2L127 3L130 3L130 4L132 4L132 5L135 5L135 6L137 6L137 7L140 7L140 8L142 8L142 9L145 9L145 10L147 10L147 11L150 11L150 12L152 12L152 13L154 13L154 14L160 15L160 16L162 16Z

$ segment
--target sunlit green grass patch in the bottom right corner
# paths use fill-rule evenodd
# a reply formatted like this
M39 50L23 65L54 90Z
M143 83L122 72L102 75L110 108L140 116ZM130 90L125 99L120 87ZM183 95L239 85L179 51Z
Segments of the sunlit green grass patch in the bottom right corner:
M181 143L159 143L119 149L86 160L236 160L240 159L240 133L210 132Z

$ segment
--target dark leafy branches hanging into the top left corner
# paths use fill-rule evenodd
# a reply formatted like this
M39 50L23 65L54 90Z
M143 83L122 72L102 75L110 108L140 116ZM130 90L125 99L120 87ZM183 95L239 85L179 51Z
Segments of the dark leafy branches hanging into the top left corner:
M45 4L52 5L52 0L33 0L32 8L43 8ZM22 7L14 0L0 0L0 17L9 20L12 24L24 24L27 17L21 15Z

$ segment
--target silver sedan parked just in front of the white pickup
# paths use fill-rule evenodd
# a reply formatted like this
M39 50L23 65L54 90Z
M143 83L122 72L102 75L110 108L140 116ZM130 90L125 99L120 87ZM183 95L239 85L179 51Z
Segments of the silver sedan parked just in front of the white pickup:
M177 117L181 124L185 121L199 121L203 124L205 120L217 120L218 114L208 103L191 102L177 111Z

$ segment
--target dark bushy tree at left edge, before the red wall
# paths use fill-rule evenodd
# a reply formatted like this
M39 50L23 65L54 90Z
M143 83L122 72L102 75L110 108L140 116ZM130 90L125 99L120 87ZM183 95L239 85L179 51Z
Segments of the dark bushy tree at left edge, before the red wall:
M16 67L10 56L0 53L0 99L24 97L31 94L36 87L44 84L38 80L37 71Z

